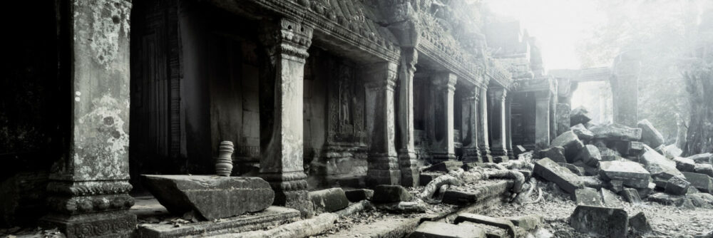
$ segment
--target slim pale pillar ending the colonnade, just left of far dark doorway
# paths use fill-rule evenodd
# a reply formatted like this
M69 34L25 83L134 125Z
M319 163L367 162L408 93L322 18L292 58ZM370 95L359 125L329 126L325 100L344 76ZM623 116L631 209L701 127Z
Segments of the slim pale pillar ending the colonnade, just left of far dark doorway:
M508 92L505 88L488 88L488 103L490 103L491 115L491 152L494 156L507 157L508 148L506 145L506 97ZM496 162L499 162L496 160Z

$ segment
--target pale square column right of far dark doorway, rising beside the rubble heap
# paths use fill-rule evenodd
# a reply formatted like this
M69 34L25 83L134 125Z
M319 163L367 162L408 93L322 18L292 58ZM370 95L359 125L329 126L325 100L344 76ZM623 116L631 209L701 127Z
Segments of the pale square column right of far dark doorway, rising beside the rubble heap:
M537 91L535 92L535 149L549 148L549 145L550 92Z

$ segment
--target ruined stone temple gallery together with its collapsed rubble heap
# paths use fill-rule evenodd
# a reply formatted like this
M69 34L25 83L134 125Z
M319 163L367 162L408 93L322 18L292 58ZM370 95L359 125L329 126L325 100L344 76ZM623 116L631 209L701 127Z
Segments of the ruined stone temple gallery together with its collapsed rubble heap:
M528 237L541 214L487 212L550 186L568 229L623 237L650 214L609 200L713 203L712 156L637 117L635 52L547 73L469 1L16 4L0 234ZM590 81L612 124L570 106Z

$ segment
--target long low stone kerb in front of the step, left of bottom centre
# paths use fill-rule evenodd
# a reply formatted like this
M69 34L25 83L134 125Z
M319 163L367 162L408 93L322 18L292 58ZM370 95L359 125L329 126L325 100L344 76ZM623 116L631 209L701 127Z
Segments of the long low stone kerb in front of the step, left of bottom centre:
M298 210L271 206L255 214L184 224L180 227L175 227L173 224L140 224L137 234L140 238L207 237L217 234L250 232L297 220L299 220Z

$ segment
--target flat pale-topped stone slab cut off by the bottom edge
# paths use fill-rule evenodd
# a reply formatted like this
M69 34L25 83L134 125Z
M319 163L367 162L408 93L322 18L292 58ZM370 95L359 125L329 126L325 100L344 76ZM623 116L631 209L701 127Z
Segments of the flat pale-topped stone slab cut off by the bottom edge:
M478 227L458 226L445 222L423 222L409 237L423 238L485 238L486 233Z

